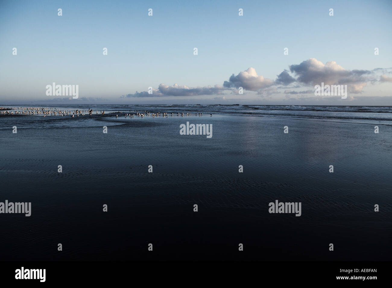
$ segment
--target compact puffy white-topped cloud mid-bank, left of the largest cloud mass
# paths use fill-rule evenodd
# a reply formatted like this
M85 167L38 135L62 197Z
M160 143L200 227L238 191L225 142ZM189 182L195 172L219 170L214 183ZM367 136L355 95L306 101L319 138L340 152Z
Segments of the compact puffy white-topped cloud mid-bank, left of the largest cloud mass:
M223 87L243 87L243 89L246 90L258 91L259 89L271 86L273 83L274 82L272 80L265 79L262 75L257 75L256 70L250 67L247 70L238 73L237 76L232 74L229 81L225 81L223 83Z

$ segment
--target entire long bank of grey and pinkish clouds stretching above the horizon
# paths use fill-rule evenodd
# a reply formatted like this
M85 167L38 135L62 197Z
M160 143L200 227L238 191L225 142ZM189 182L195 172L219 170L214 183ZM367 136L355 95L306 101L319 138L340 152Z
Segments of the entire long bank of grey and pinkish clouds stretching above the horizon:
M152 89L152 94L147 91L134 94L127 94L121 98L153 98L163 96L201 96L201 95L228 95L238 94L239 87L245 91L255 91L259 96L269 96L272 94L309 94L313 90L295 91L291 89L300 87L314 87L314 85L347 85L348 92L357 94L361 93L367 83L392 82L391 78L386 76L392 68L376 68L369 70L346 70L338 65L335 61L323 63L316 58L310 58L299 64L289 65L289 70L284 69L275 81L258 75L253 67L239 72L237 75L232 74L229 81L224 81L223 86L215 85L214 87L189 87L186 85L166 85L160 84L158 89ZM383 74L380 76L380 74ZM292 85L290 85L292 84ZM285 89L284 92L280 89ZM290 90L287 90L290 89Z

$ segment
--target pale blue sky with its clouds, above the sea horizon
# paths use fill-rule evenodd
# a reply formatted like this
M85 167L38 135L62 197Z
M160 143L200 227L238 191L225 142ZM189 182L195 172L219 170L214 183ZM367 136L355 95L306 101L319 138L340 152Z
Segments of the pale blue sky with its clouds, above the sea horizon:
M392 105L391 29L390 0L0 0L0 105Z

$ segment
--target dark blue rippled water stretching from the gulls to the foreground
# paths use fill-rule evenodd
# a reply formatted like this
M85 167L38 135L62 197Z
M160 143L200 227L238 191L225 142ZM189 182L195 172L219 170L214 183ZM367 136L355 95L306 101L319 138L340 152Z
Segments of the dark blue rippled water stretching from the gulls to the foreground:
M391 107L57 108L107 114L0 117L0 202L32 205L0 214L3 260L391 260ZM187 121L212 138L180 135Z

